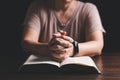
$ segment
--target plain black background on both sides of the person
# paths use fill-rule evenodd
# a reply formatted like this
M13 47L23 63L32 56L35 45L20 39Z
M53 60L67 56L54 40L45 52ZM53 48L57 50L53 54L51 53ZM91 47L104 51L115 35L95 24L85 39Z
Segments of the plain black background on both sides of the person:
M0 2L0 72L15 72L25 59L20 40L21 24L32 0L1 0ZM87 1L87 0L85 0ZM89 0L98 7L106 30L105 53L120 52L119 0Z

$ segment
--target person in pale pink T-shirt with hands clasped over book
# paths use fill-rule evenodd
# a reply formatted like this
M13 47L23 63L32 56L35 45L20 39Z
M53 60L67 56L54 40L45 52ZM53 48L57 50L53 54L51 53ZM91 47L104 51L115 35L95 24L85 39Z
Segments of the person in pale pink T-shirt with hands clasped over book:
M70 56L100 55L104 46L105 30L92 3L36 0L23 25L23 49L57 61Z

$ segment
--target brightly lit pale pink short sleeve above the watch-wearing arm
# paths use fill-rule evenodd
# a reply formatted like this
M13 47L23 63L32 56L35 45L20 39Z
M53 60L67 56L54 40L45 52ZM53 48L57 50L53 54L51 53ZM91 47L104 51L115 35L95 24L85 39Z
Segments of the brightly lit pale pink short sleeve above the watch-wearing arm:
M85 4L85 34L86 37L94 31L106 31L103 28L97 7L92 3Z

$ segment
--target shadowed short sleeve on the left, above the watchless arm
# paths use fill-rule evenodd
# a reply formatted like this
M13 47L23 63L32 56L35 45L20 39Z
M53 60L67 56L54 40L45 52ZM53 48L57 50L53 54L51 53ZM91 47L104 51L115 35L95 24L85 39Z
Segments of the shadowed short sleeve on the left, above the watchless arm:
M40 31L40 18L38 5L39 4L37 1L34 1L33 3L30 4L23 22L23 26L33 28L37 32Z

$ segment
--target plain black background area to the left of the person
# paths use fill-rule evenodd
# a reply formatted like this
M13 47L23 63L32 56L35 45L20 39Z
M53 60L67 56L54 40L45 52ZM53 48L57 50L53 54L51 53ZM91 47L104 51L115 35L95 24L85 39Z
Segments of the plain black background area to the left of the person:
M26 57L20 41L21 24L29 3L30 0L2 0L0 3L0 72L14 72Z

